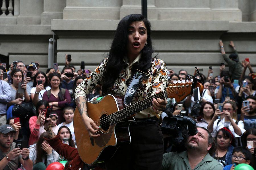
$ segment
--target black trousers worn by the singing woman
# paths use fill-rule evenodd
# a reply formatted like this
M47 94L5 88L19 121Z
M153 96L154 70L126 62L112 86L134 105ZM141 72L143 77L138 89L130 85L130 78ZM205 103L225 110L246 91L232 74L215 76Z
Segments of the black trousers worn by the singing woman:
M106 162L108 170L160 170L164 154L163 134L157 121L130 125L130 145L120 145Z

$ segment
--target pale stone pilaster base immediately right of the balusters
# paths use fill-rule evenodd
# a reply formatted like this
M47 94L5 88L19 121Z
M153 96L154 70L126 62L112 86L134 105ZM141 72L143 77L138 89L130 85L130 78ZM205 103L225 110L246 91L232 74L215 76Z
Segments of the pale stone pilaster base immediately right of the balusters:
M17 18L17 24L40 25L43 9L43 0L23 0L20 3L20 15Z

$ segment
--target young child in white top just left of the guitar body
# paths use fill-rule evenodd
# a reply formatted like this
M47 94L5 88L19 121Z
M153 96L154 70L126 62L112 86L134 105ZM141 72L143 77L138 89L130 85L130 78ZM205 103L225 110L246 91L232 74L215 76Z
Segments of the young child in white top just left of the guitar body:
M75 132L74 132L74 123L73 123L73 118L74 118L74 109L73 107L65 107L63 109L63 117L65 118L65 122L62 122L61 124L58 124L59 127L61 126L67 126L70 131L71 135L73 137L73 141L75 140Z

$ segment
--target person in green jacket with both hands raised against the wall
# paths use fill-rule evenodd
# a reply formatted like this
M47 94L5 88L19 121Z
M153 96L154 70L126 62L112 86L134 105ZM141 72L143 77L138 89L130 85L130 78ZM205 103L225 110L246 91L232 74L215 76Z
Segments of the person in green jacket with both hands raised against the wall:
M230 41L229 45L233 48L235 51L234 54L230 54L229 57L226 55L226 52L223 47L223 42L220 40L220 52L224 58L224 60L228 63L229 72L232 74L232 80L239 80L242 74L242 63L239 61L238 52L236 50L236 47L234 45L233 41Z

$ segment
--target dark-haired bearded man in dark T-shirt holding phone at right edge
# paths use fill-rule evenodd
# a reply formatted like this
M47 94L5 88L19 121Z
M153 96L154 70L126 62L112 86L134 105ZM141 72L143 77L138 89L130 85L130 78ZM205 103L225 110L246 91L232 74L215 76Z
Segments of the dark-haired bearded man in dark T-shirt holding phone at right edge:
M256 128L256 97L248 96L245 100L249 101L249 109L247 106L241 109L240 120L244 121L244 129Z

